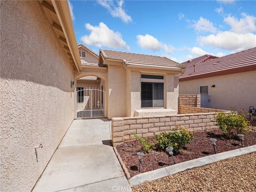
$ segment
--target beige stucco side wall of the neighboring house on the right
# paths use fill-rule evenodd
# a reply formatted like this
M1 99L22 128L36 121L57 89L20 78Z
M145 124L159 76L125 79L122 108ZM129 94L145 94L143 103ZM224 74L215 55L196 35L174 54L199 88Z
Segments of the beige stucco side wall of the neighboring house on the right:
M180 94L198 94L199 86L209 86L210 108L237 110L256 107L256 71L180 82ZM211 86L215 85L214 89Z

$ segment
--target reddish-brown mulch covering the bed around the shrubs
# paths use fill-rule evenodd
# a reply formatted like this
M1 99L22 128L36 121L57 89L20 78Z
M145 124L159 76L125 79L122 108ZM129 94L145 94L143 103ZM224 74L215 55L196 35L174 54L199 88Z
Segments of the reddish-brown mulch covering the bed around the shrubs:
M221 130L196 132L194 134L195 139L185 146L185 150L181 150L180 153L174 154L176 163L213 155L214 150L209 141L210 138L216 138L218 140L216 145L217 153L256 145L256 132L250 132L249 135L245 137L245 140L243 141L244 146L241 145L241 141L239 140L225 137ZM152 140L155 141L154 138ZM124 144L117 146L117 151L123 159L131 177L139 174L139 161L136 153L142 151L141 148L142 146L139 140L125 142ZM172 164L172 158L169 157L165 151L153 148L143 157L141 172L156 170Z

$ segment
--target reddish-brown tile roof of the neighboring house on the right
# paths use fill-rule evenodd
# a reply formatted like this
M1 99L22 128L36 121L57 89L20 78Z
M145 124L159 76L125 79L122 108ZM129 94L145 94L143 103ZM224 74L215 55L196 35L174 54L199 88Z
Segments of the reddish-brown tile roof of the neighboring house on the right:
M199 62L186 68L180 81L256 70L256 47L226 55L221 58Z

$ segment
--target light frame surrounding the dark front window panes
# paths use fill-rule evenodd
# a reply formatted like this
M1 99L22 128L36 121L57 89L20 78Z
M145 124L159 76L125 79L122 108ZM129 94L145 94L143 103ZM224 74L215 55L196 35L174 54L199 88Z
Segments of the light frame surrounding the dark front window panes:
M158 75L158 76L163 76L163 79L150 79L150 78L141 78L141 75ZM141 109L157 109L157 108L165 108L165 75L164 74L147 74L147 73L140 73L140 108ZM163 107L142 107L141 106L141 82L145 82L145 83L163 83L164 84L164 98L163 98ZM154 86L154 85L153 85ZM154 102L154 99L153 99ZM154 103L153 103L154 106Z

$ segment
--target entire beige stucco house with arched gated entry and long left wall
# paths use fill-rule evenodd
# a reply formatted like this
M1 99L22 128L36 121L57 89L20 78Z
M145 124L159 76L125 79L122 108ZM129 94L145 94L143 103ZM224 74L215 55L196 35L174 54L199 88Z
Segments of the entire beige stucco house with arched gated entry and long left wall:
M30 191L75 118L177 114L183 71L77 46L68 1L1 1L0 190Z

